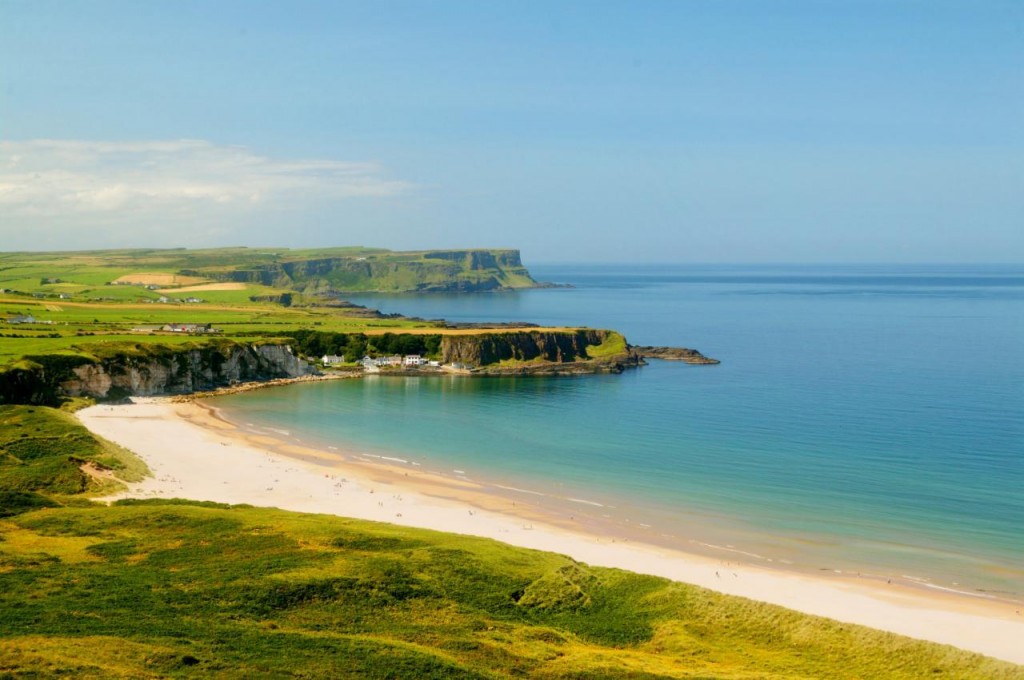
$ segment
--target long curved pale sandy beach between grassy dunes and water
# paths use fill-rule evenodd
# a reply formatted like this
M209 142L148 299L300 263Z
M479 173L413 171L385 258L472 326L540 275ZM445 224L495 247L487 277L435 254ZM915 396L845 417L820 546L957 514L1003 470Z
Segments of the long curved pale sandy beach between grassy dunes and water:
M600 566L665 577L798 611L1024 664L1020 605L850 576L816 576L689 554L572 526L469 480L249 432L203 402L137 399L79 412L153 476L117 498L186 498L334 514L486 537Z

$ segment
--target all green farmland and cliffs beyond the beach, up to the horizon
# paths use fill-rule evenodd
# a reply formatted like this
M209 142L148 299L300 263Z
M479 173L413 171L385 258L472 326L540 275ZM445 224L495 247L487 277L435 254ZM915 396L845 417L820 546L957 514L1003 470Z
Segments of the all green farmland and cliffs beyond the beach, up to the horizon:
M0 254L0 403L187 393L311 371L289 356L268 357L274 346L312 365L323 356L354 366L365 355L416 354L483 373L621 371L639 363L610 332L464 329L381 314L339 297L335 286L352 284L342 273L353 267L370 267L359 287L375 290L440 290L445 281L475 290L465 282L483 275L500 288L535 285L517 251Z

